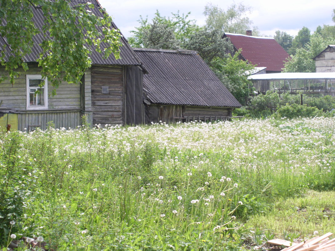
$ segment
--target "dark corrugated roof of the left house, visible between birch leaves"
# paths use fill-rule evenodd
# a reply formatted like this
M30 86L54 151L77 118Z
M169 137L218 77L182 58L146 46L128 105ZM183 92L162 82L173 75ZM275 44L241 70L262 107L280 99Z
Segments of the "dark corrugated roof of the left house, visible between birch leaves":
M82 0L71 0L70 4L74 6L74 5L82 4L86 2L87 1L82 1ZM96 7L101 8L98 1L92 0L90 2L94 4ZM96 16L103 16L103 14L99 11L98 8L91 8L89 10L91 10ZM32 8L32 11L34 12L33 20L36 24L36 27L41 29L43 26L43 20L44 20L42 11L40 9L35 9L35 8ZM117 29L116 25L113 22L111 24L111 28ZM102 31L101 28L98 28L98 29L100 30L100 32ZM32 52L29 55L26 55L24 57L25 62L36 62L36 59L39 57L39 54L42 51L39 44L42 42L43 39L44 39L43 34L37 34L34 37L33 39L34 45L32 47ZM110 55L108 58L105 59L103 58L103 54L96 52L94 47L92 47L92 53L90 54L90 57L92 59L92 64L141 65L141 62L136 57L134 51L127 43L127 40L124 37L122 37L121 41L122 41L123 46L120 47L120 50L121 50L120 59L116 60L114 55ZM3 46L3 43L4 43L4 38L0 37L1 48Z

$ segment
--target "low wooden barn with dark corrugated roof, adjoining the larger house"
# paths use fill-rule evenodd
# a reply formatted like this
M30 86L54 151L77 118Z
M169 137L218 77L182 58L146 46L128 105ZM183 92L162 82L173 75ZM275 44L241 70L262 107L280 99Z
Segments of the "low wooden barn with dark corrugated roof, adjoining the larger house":
M145 122L223 120L241 104L195 51L134 48L143 75Z

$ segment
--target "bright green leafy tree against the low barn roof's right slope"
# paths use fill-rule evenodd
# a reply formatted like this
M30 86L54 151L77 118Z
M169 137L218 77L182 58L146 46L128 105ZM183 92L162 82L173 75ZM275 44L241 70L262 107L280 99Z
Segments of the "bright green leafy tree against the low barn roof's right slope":
M241 49L234 56L228 54L225 58L216 57L212 61L212 70L225 85L228 91L242 104L246 105L246 98L253 91L249 88L252 82L248 80L255 65L239 59Z

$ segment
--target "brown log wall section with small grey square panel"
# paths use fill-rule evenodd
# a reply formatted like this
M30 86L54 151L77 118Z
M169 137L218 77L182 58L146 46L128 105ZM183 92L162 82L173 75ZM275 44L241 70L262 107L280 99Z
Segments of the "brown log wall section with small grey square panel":
M123 67L92 66L91 98L94 124L124 123ZM103 93L103 88L105 89Z

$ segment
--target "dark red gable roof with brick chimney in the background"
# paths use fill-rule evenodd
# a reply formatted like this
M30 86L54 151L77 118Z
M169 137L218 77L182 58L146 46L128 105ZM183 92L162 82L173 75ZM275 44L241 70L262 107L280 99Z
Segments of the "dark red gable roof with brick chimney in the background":
M254 37L241 34L224 33L236 50L242 48L244 59L258 67L266 67L267 71L281 71L283 61L289 58L288 53L274 38Z

